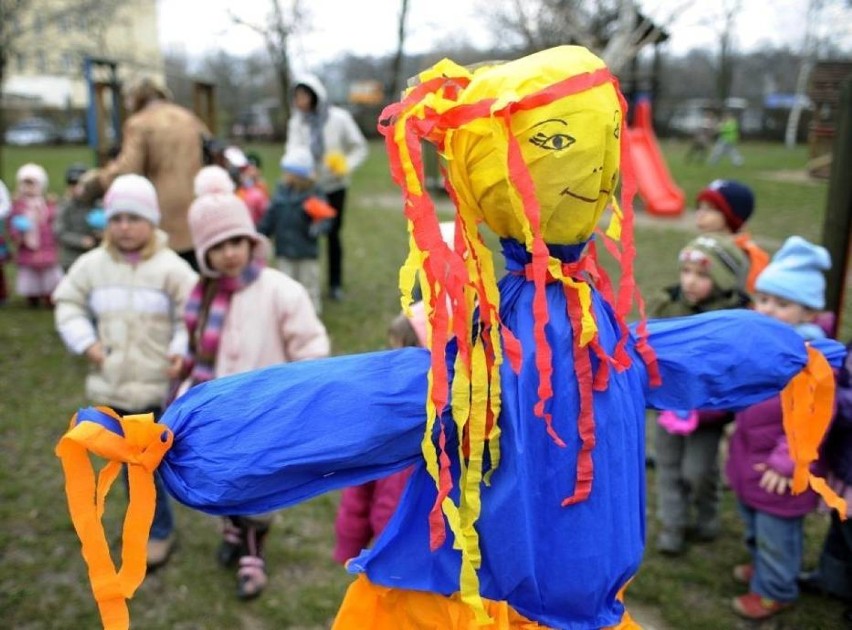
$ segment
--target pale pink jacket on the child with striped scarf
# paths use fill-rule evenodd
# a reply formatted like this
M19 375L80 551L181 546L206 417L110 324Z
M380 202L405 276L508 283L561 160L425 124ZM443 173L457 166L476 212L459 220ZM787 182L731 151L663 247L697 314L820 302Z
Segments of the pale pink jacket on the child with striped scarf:
M329 346L305 288L277 269L265 268L231 298L216 377L328 356Z

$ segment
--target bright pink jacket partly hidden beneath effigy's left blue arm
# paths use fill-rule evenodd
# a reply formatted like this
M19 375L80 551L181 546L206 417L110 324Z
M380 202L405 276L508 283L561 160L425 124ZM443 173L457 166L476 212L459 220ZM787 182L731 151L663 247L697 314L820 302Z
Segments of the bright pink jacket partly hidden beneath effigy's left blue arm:
M413 466L384 479L344 488L334 521L333 558L344 564L378 537L396 511Z

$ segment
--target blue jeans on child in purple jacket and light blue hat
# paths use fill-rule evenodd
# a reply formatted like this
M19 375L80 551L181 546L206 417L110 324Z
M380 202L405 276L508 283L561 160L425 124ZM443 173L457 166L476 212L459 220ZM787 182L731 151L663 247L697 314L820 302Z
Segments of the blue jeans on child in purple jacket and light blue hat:
M799 596L796 578L802 568L804 517L783 518L739 503L745 542L754 564L749 590L779 602Z

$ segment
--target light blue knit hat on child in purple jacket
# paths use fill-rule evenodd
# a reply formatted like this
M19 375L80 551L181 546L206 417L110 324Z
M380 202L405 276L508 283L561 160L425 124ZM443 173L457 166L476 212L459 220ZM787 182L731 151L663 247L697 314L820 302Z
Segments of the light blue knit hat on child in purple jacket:
M791 236L757 277L755 289L814 310L825 308L824 271L831 269L825 247Z

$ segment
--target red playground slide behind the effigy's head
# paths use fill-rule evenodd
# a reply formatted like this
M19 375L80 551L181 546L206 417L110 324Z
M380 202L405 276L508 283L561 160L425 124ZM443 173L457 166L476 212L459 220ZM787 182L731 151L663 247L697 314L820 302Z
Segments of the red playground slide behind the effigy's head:
M648 214L674 217L683 213L686 196L672 180L651 118L651 104L642 99L636 105L633 126L627 129L630 157L639 186L639 197Z

